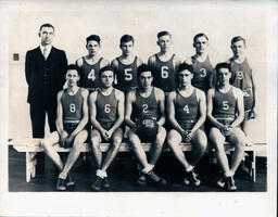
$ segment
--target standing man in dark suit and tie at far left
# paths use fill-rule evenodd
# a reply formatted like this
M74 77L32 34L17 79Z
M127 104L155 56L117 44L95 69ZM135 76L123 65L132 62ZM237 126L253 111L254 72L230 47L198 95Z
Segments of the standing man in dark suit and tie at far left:
M67 60L65 52L54 48L54 27L43 24L39 29L41 43L26 53L25 76L28 85L33 138L45 137L46 113L50 131L55 131L56 94L63 89ZM40 159L41 158L41 159ZM43 170L43 156L38 157L38 173Z

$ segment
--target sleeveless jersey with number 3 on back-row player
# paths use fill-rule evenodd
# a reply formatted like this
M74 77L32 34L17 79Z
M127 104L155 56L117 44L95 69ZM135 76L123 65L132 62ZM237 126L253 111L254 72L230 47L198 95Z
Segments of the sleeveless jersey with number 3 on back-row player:
M208 55L204 62L199 62L194 56L191 58L193 63L193 79L192 86L206 92L214 87L214 68Z

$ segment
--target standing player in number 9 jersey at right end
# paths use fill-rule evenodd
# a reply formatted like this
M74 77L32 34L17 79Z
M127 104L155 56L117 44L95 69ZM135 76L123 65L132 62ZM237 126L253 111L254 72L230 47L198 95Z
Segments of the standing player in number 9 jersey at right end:
M241 124L241 129L245 136L250 135L250 119L255 118L255 86L252 75L252 68L245 56L245 39L241 36L236 36L231 39L231 51L233 56L228 60L231 68L231 85L243 91L244 101L244 119ZM251 143L250 141L247 141ZM244 158L243 158L244 159ZM243 174L249 174L249 169L244 165L244 161L240 165L240 170Z

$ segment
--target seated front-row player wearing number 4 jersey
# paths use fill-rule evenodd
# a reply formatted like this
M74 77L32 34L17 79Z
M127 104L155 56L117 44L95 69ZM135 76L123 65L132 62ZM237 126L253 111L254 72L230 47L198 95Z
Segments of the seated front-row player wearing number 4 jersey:
M173 129L168 132L167 143L175 157L186 170L185 184L200 186L193 168L204 155L207 139L202 129L206 117L205 93L191 85L192 66L182 63L178 67L178 84L176 91L168 94L168 119ZM180 142L192 142L190 163L186 158Z

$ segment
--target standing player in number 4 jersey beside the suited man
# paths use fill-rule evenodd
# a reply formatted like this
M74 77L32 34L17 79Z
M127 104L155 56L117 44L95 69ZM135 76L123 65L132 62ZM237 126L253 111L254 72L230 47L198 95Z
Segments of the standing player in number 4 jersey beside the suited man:
M78 59L76 65L80 68L79 86L92 92L100 87L99 72L109 65L109 61L99 56L101 44L98 35L87 37L86 41L88 54Z

